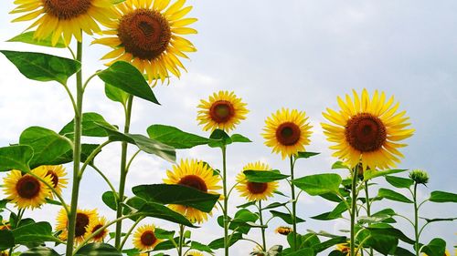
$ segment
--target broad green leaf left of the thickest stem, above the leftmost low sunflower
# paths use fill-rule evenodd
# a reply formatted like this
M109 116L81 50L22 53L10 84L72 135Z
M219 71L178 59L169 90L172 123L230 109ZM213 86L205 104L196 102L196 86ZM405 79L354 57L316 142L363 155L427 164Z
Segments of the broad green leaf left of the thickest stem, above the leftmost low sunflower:
M62 164L56 159L65 155L72 148L69 138L58 135L48 128L40 127L24 130L19 138L19 144L33 148L34 155L29 163L32 169L41 165Z

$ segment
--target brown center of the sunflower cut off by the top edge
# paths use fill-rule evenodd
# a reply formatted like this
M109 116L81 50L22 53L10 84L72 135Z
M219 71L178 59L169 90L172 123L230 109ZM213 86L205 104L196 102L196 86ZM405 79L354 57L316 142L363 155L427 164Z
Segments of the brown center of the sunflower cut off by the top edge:
M91 5L91 0L43 0L45 12L63 20L87 14Z

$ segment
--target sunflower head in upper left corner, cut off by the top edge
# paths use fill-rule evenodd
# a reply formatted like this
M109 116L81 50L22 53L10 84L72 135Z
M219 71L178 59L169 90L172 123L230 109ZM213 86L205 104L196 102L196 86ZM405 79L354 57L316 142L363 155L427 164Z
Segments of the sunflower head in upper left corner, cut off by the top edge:
M34 37L38 40L51 36L53 46L62 35L69 45L72 36L82 41L81 31L100 33L96 22L108 23L114 15L111 0L16 0L15 4L18 6L11 14L27 14L13 22L37 19L27 29L37 27Z

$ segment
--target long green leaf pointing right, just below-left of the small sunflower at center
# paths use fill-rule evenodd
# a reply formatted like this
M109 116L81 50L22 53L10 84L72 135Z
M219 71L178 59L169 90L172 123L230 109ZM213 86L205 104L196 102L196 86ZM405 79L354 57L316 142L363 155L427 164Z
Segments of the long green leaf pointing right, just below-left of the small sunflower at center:
M147 128L149 138L164 143L173 148L194 148L198 145L205 145L211 141L195 134L187 133L175 127L165 125L152 125Z

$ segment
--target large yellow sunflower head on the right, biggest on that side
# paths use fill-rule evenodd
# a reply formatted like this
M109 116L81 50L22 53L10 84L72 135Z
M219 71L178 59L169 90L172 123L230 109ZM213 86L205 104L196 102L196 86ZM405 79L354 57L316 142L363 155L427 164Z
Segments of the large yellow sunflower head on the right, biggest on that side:
M399 103L394 104L394 97L386 101L386 94L375 91L370 99L367 89L359 97L353 90L354 98L345 95L345 100L338 97L340 111L327 108L323 113L332 124L323 123L324 134L334 142L333 156L343 159L354 168L362 163L363 169L388 169L403 158L398 148L406 144L400 140L412 136L414 129L408 128L406 111L397 113Z

